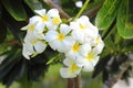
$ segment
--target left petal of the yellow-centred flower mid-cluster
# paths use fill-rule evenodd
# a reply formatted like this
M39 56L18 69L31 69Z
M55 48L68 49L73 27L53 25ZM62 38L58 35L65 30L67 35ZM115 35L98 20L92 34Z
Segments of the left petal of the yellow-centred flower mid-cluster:
M58 38L59 33L55 31L48 31L45 34L45 41L47 42L52 42Z

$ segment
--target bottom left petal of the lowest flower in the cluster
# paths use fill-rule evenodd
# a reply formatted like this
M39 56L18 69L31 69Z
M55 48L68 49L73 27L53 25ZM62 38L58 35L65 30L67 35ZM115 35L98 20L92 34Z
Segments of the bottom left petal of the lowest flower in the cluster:
M74 78L74 77L76 77L76 74L71 74L69 72L69 68L61 68L60 74L63 78Z

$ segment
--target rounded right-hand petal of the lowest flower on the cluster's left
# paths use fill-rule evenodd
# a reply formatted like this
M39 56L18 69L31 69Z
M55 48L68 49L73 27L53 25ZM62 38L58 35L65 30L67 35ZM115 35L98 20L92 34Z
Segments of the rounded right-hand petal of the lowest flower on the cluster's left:
M42 52L44 52L45 47L47 47L47 44L43 43L43 42L41 42L41 41L40 41L40 42L37 42L37 43L34 44L34 48L35 48L37 53L42 53Z

